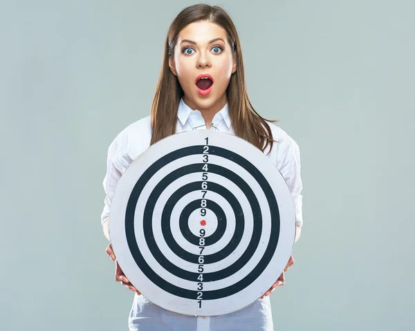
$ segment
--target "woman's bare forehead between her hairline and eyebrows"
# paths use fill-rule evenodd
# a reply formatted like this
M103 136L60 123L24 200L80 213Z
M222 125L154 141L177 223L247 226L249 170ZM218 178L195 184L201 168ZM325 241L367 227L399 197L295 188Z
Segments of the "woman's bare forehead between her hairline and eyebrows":
M190 39L198 44L203 44L215 38L222 38L227 42L225 29L210 21L198 21L190 23L181 30L178 34L178 44L183 39Z

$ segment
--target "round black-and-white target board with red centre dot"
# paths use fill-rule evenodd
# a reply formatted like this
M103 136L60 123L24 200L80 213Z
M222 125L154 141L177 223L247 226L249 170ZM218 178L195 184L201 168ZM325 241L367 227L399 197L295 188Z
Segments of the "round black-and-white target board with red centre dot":
M173 312L213 316L250 305L282 273L295 209L275 164L214 130L176 133L123 173L109 234L129 281Z

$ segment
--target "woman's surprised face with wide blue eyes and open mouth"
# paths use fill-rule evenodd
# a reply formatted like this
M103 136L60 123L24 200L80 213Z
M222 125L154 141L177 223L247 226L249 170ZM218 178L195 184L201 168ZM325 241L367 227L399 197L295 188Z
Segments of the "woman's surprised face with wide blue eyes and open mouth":
M186 26L178 35L169 66L183 88L188 106L203 109L225 105L225 91L237 65L221 26L210 21ZM210 77L200 79L203 74Z

